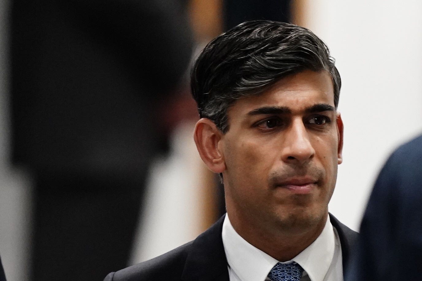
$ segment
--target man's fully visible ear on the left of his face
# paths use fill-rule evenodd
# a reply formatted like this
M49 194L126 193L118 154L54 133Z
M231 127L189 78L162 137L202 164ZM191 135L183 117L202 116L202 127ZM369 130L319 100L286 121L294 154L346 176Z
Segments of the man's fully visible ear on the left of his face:
M223 133L208 118L201 118L196 122L193 138L202 161L214 173L222 173L226 169L226 163L218 143Z

